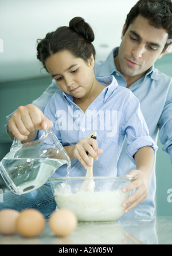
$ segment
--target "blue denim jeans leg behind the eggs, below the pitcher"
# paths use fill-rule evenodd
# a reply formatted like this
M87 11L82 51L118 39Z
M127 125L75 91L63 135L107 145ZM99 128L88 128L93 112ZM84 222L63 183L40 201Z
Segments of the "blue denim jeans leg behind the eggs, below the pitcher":
M16 195L11 191L3 194L3 201L0 202L0 210L10 208L24 210L34 208L39 210L44 217L49 217L56 210L56 202L49 183L46 183L37 190L23 195Z

